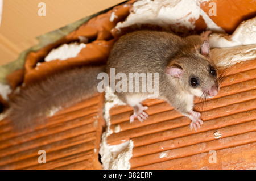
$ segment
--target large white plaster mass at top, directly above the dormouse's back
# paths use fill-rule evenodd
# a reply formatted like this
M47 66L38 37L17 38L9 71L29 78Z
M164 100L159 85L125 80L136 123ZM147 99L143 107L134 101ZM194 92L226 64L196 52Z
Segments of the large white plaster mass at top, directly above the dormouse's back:
M218 27L203 10L196 0L140 0L133 4L133 9L124 22L119 22L115 28L121 30L133 24L154 24L159 26L173 25L184 26L188 29L195 28L195 22L200 15L205 20L207 28L218 32L224 30ZM193 11L191 11L193 10Z

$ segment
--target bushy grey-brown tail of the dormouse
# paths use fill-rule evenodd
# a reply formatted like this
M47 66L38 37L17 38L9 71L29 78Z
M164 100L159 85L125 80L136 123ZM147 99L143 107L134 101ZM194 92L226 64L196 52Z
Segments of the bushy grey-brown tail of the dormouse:
M53 110L96 94L100 81L97 75L101 72L104 67L71 69L27 87L10 102L9 117L14 129L35 128L43 124Z

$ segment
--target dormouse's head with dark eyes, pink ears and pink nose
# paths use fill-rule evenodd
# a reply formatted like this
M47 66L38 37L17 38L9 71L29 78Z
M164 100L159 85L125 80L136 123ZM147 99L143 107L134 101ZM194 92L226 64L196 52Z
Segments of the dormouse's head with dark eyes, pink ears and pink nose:
M177 78L180 85L195 96L212 98L218 94L218 72L210 60L209 41L204 40L200 48L180 53L167 66L166 73Z

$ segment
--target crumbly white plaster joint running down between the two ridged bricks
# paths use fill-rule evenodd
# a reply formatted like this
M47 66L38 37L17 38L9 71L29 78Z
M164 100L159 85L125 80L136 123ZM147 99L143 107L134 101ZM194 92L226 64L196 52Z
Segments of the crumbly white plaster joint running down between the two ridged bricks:
M125 105L117 98L114 93L110 92L110 87L105 91L104 119L106 121L106 131L102 133L100 144L100 155L102 166L106 170L111 169L130 169L130 158L133 156L133 141L129 140L119 145L109 145L107 138L113 133L110 129L109 110L115 105Z

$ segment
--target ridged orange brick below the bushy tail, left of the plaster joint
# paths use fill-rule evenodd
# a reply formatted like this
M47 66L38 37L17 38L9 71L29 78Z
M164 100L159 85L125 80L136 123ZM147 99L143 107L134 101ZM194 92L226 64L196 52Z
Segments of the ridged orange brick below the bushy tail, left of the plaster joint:
M49 118L33 132L14 132L9 120L0 123L0 169L102 169L98 149L103 95L85 100ZM47 164L38 163L46 151Z

